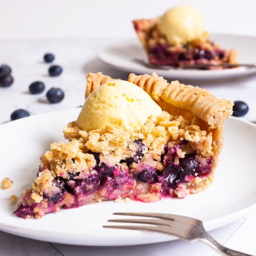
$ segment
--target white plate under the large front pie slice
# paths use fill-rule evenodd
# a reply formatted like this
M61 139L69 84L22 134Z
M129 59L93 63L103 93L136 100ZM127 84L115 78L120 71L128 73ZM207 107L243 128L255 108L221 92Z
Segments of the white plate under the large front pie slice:
M205 191L184 199L160 202L101 202L63 209L41 219L13 215L10 195L20 195L36 177L40 155L53 141L64 141L62 128L75 120L80 109L23 118L0 126L0 180L13 186L0 189L0 230L48 242L77 245L135 245L173 240L175 237L132 230L103 229L114 212L160 212L191 216L204 221L207 230L242 217L256 207L256 125L231 117L225 128L225 145L216 180ZM117 216L118 217L118 216ZM121 217L121 216L120 216Z

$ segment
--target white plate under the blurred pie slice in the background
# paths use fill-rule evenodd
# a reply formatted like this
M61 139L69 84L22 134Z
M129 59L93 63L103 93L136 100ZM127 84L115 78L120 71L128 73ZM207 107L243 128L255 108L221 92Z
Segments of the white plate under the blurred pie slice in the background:
M237 61L240 63L256 63L255 45L256 37L212 34L211 38L223 48L236 49ZM120 70L138 74L151 74L152 72L170 79L218 79L235 76L243 76L256 73L256 68L238 67L222 70L163 70L143 67L132 61L133 58L147 60L146 54L137 38L114 42L101 49L98 53L101 61Z

